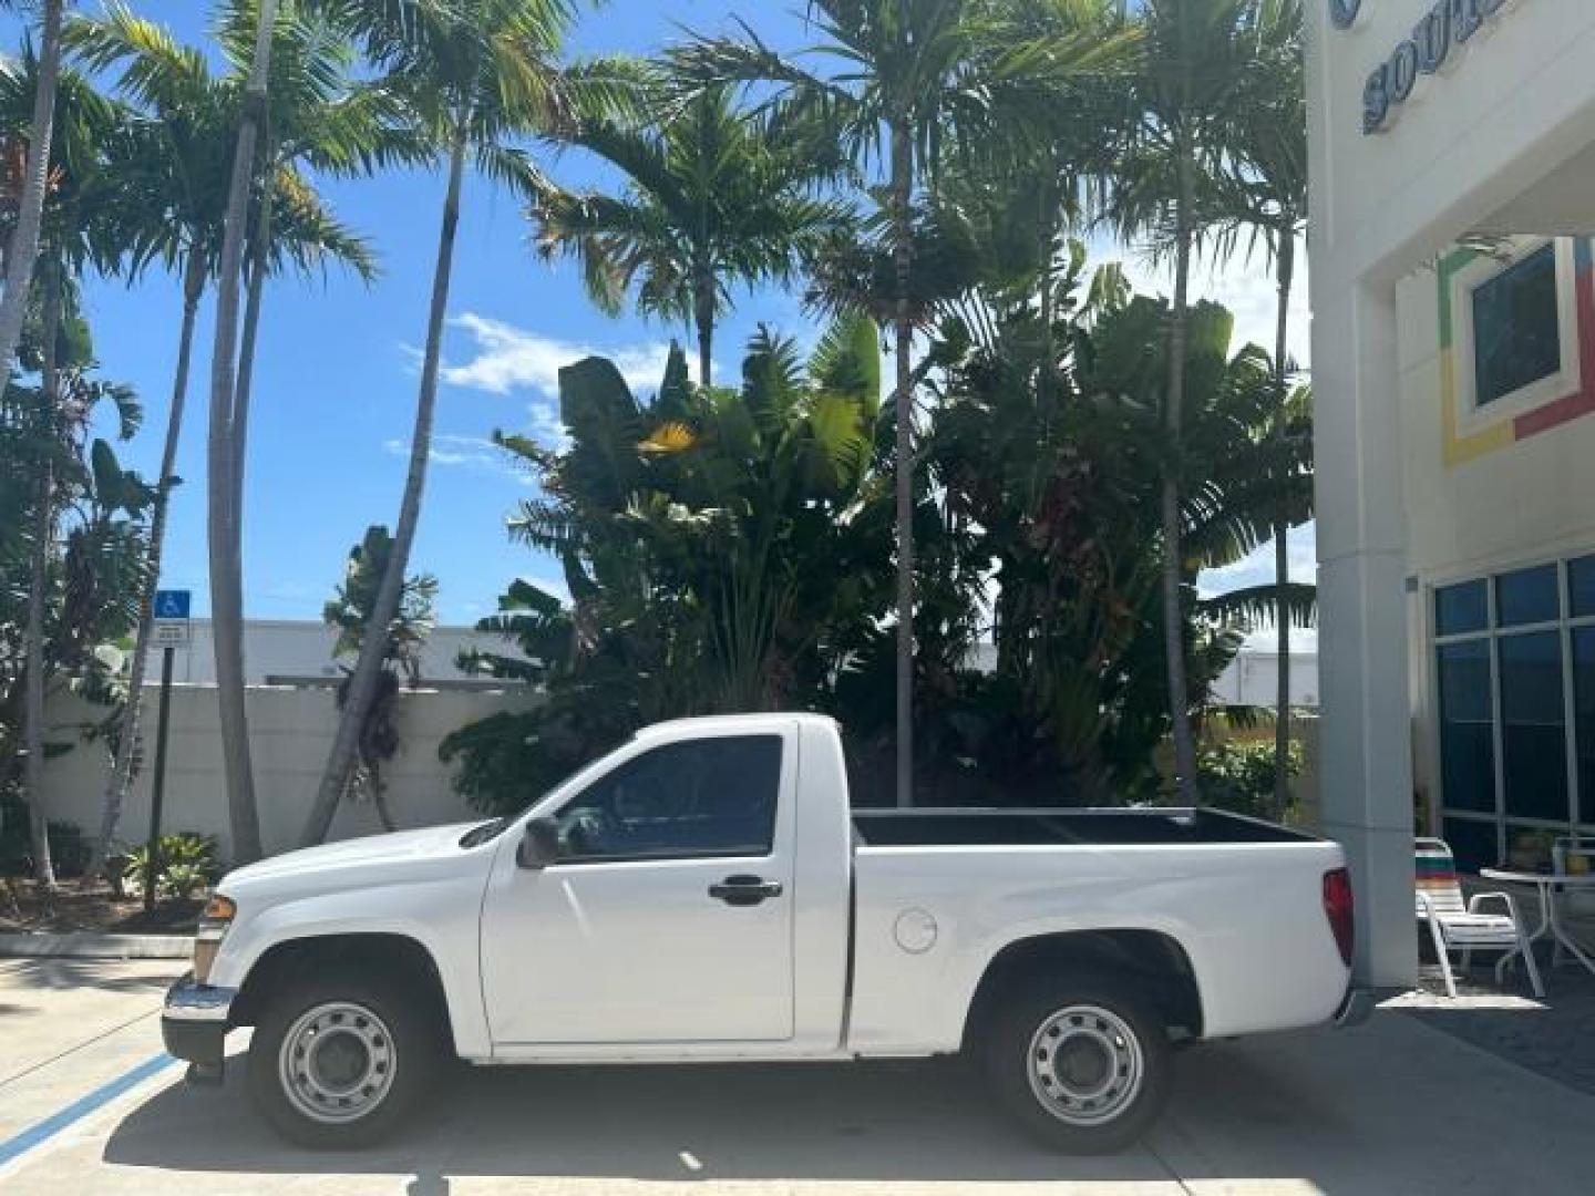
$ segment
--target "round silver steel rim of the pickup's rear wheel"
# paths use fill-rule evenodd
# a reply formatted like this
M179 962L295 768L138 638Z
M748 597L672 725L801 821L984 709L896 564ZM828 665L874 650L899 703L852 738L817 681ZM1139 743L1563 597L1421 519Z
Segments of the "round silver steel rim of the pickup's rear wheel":
M1099 1005L1070 1005L1046 1017L1026 1057L1042 1108L1070 1126L1101 1126L1140 1092L1145 1059L1123 1017Z

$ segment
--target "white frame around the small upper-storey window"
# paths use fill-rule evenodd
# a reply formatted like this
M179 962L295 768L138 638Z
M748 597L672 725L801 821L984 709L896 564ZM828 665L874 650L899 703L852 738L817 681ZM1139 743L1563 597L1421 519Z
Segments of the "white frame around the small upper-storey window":
M1474 292L1522 265L1534 254L1552 247L1557 279L1557 349L1560 367L1538 381L1520 386L1488 403L1479 402L1477 336L1474 330ZM1456 338L1456 434L1474 435L1495 424L1510 423L1546 403L1582 389L1584 370L1579 354L1577 257L1571 238L1533 238L1512 247L1506 258L1480 255L1458 269L1450 281L1451 313Z

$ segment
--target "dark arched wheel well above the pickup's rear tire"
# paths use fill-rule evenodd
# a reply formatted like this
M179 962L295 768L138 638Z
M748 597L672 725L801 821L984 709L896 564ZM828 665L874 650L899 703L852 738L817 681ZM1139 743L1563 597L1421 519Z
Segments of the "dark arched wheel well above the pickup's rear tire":
M1088 930L1040 934L1003 947L986 966L963 1024L965 1045L979 1033L1002 998L1040 976L1067 976L1089 968L1128 976L1163 1014L1163 1024L1180 1037L1203 1032L1201 993L1190 957L1171 936L1156 930Z

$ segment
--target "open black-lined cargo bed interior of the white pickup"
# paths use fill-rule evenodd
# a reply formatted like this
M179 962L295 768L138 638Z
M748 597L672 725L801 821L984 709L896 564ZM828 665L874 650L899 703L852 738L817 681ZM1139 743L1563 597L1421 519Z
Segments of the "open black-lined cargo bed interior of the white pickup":
M1290 844L1313 836L1206 807L855 810L864 847Z

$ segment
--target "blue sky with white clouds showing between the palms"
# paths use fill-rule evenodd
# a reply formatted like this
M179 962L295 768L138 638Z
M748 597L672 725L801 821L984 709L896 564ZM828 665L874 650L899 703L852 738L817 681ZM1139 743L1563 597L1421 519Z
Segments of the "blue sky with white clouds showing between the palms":
M190 43L204 40L209 8L188 0L136 5ZM94 11L93 3L83 5ZM782 46L801 38L801 3L726 0L612 0L589 11L574 51L651 51L681 37L681 27L729 29L732 11L751 14L761 37ZM16 43L16 21L0 24ZM597 177L590 163L568 156L549 164L561 180ZM442 179L439 172L388 174L327 183L324 193L352 226L368 234L383 276L372 287L340 274L322 281L282 279L270 285L255 375L246 494L244 606L258 619L317 619L341 577L351 544L368 523L392 523L404 485L404 454L415 410L418 346L435 254ZM1112 246L1104 254L1121 255ZM1139 279L1158 279L1136 268ZM1225 263L1204 271L1201 289L1230 303L1239 332L1266 338L1273 293L1263 263ZM1305 293L1305 284L1303 284ZM209 297L207 297L209 298ZM152 274L136 289L121 282L86 287L96 351L107 378L132 383L147 423L126 456L153 475L166 427L175 359L179 295ZM209 308L209 303L206 305ZM1305 303L1303 303L1305 308ZM490 612L517 576L552 582L558 569L504 536L504 515L530 493L486 437L494 427L544 434L557 426L553 378L585 352L617 357L635 386L657 380L670 338L681 329L638 319L609 319L582 295L569 265L545 266L526 242L520 204L469 180L459 226L445 340L445 372L426 507L412 568L439 577L445 624ZM745 298L723 327L719 368L758 322L799 336L810 333L791 295ZM1306 359L1306 317L1297 317L1297 352ZM204 407L209 391L209 309L201 314L179 456L185 485L174 493L163 585L195 590L195 614L209 609L204 542ZM1311 537L1294 544L1311 561ZM1262 561L1206 579L1230 588L1263 576Z

